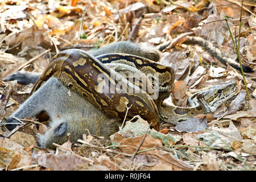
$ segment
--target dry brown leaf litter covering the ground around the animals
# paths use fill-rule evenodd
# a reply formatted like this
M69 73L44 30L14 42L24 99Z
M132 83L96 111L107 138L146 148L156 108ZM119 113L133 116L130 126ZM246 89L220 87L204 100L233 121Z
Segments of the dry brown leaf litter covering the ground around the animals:
M1 170L255 169L255 73L245 73L251 97L248 101L240 71L221 64L204 47L176 39L183 33L192 32L210 40L223 55L236 60L228 28L220 19L224 19L224 15L232 16L228 23L232 34L237 35L240 1L207 1L204 5L187 0L172 3L105 0L52 2L5 0L0 4L1 91L7 85L3 81L5 77L20 70L40 73L60 50L77 47L88 51L127 40L143 14L136 42L155 48L172 42L172 46L161 51L160 63L171 66L176 73L172 90L175 105L187 106L187 98L192 93L230 81L238 84L238 93L214 113L191 118L182 123L181 128L162 123L161 133L155 130L146 133L148 123L139 119L137 122L126 122L126 126L111 139L87 135L81 140L82 143L71 145L67 141L63 146L57 146L56 151L39 148L36 144L36 133L42 134L47 130L47 119L40 125L28 119L24 121L25 126L17 127L19 131L8 134L0 127ZM240 53L242 63L255 71L253 12L255 6L245 3ZM37 57L40 53L42 55ZM22 104L31 89L32 85L17 84L11 98ZM5 114L1 116L2 121L18 107L15 102L8 102Z

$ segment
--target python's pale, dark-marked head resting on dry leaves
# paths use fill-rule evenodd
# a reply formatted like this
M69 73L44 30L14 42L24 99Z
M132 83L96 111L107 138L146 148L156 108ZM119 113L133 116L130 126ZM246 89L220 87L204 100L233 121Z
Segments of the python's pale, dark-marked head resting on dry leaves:
M204 105L205 112L214 112L220 105L232 98L237 92L235 82L211 86L208 90L197 94L197 99Z

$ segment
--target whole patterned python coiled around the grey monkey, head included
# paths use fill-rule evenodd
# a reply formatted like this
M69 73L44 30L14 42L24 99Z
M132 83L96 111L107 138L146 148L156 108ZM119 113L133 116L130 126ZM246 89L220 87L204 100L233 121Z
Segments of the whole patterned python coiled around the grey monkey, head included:
M138 81L138 75L127 73L146 75L146 89L143 89L145 82ZM52 76L109 117L123 119L127 111L128 119L140 115L156 130L159 129L159 118L176 125L193 115L214 111L237 89L234 83L219 85L193 94L189 98L192 107L164 107L162 102L170 96L174 85L175 76L171 67L124 53L94 57L81 49L67 49L55 55L31 93ZM158 93L158 96L153 98L152 93ZM127 106L130 106L128 110Z

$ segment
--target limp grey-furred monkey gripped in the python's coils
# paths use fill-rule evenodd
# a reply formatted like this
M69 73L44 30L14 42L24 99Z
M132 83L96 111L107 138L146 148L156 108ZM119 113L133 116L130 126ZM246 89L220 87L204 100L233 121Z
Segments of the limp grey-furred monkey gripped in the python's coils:
M144 49L131 42L110 44L110 46L93 50L90 53L93 56L105 53L129 53L155 61L160 58L159 53L153 49ZM120 67L119 64L108 64L108 66L120 73L139 72L138 69L131 68L129 65ZM23 75L26 76L26 73ZM22 75L19 75L19 78L22 78ZM69 90L55 77L49 78L7 119L7 122L17 122L13 117L22 119L34 117L42 111L46 111L51 119L46 133L38 134L39 146L45 148L55 148L52 145L53 142L58 144L67 142L68 133L72 133L72 130L74 131L70 140L74 143L82 137L82 134L88 134L88 131L90 134L108 137L118 131L121 125L117 119L107 117L101 110ZM13 129L15 126L7 125L7 128Z

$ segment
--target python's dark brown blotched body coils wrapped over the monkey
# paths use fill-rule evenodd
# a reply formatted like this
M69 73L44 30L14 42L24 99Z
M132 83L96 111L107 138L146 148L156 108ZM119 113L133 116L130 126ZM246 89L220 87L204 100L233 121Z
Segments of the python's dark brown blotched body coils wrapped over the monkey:
M110 56L110 55L109 55ZM121 55L112 55L113 57ZM144 59L139 56L122 55L123 59L119 61L129 61L129 57L136 58L136 63L142 65L156 65L158 72L160 69L166 71L168 82L172 85L172 69L163 67L154 61ZM110 56L111 57L111 56ZM102 61L108 62L106 56L99 57ZM130 63L134 60L130 60ZM169 72L168 72L169 71ZM34 85L32 92L35 92L50 77L58 78L65 86L80 94L86 100L101 109L109 117L123 119L126 114L126 104L131 105L127 113L127 118L134 115L141 117L158 130L159 113L155 100L150 99L147 93L144 93L139 86L128 81L114 69L107 67L96 57L80 49L68 49L58 53L52 58L43 74ZM122 85L121 87L119 85ZM118 90L113 89L121 89ZM129 92L129 89L133 92ZM167 89L166 89L167 90ZM31 93L32 93L31 92ZM167 92L170 92L169 89Z

